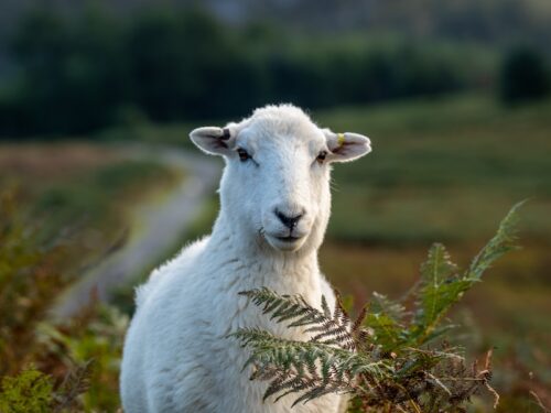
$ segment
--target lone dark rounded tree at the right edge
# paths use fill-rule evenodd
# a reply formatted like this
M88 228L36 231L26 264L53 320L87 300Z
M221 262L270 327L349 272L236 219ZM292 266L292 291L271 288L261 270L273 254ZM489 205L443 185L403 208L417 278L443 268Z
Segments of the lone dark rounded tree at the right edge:
M551 72L545 57L529 47L506 55L499 80L501 99L507 104L541 99L551 93Z

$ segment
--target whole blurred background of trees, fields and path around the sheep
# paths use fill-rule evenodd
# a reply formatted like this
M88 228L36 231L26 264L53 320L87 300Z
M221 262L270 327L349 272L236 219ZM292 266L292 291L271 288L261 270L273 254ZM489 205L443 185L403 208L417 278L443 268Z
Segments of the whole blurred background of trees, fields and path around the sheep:
M371 138L321 251L357 305L406 293L434 241L465 267L530 199L454 319L495 348L497 411L551 407L550 39L545 0L3 0L0 410L22 369L62 410L118 409L133 286L218 209L187 134L269 102Z

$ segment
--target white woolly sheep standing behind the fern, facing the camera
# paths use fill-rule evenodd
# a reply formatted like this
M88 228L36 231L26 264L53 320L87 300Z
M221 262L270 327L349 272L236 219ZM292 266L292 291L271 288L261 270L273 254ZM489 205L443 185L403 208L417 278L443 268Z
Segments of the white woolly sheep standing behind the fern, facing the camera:
M267 383L241 372L248 351L227 335L256 326L307 337L269 322L238 292L267 286L302 294L315 306L324 294L334 304L317 263L331 164L368 153L369 139L320 129L291 105L257 109L225 129L195 129L191 139L226 161L222 208L209 237L155 270L137 292L122 359L125 412L289 412L293 398L262 402ZM328 394L293 411L335 413L341 400Z

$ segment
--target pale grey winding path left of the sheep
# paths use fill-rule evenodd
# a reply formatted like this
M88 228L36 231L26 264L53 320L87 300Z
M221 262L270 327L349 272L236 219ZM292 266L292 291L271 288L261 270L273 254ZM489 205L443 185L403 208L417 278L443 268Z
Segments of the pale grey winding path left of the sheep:
M74 315L89 303L95 290L99 300L108 301L110 291L130 283L143 269L154 265L182 237L220 175L219 163L176 148L137 146L129 150L128 156L161 162L182 171L185 177L170 194L149 199L134 209L128 242L61 296L52 312L55 318Z

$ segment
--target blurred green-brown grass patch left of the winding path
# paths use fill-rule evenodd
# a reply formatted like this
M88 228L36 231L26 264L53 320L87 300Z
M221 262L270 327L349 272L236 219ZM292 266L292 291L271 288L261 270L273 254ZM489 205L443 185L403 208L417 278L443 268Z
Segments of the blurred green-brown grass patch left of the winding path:
M0 189L18 194L20 209L40 220L44 239L72 233L83 254L74 260L77 268L123 241L136 203L180 180L165 165L130 160L105 144L0 145Z

